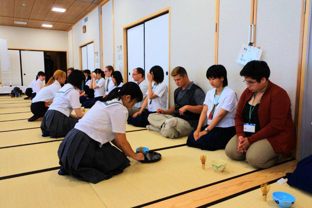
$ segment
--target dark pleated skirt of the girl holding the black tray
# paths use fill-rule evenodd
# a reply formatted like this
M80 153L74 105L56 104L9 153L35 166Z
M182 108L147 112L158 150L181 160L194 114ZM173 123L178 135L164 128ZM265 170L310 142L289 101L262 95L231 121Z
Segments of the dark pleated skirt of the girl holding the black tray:
M57 151L60 165L82 181L98 183L118 175L130 165L129 159L110 142L100 143L86 133L73 128Z

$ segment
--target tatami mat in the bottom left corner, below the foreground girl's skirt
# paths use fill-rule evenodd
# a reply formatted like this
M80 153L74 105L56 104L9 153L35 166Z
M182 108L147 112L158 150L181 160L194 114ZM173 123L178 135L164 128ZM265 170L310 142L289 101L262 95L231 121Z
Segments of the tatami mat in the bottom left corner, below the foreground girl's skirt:
M105 207L92 187L58 170L0 181L0 207Z

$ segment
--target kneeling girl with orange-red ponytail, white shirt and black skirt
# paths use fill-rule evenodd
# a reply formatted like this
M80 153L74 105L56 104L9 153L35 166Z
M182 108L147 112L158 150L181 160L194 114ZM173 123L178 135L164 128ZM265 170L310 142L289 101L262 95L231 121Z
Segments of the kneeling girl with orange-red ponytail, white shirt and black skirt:
M55 97L55 93L61 89L61 84L64 84L66 80L66 73L62 70L56 70L53 76L50 78L46 85L42 86L42 89L38 92L36 97L32 99L30 110L34 114L28 121L42 121L43 116Z

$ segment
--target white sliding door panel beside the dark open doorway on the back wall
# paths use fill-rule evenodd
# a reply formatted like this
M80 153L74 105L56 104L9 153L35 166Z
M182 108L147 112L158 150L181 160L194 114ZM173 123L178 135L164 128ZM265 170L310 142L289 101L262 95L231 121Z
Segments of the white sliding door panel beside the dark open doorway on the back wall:
M23 85L28 86L38 71L44 71L43 51L21 51Z

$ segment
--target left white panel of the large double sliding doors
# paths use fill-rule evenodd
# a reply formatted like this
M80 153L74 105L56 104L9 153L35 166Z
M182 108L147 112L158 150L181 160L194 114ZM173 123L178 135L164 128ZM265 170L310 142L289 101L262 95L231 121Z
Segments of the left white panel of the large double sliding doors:
M144 24L127 30L128 82L133 82L132 72L144 69Z

